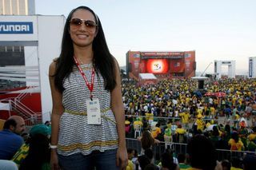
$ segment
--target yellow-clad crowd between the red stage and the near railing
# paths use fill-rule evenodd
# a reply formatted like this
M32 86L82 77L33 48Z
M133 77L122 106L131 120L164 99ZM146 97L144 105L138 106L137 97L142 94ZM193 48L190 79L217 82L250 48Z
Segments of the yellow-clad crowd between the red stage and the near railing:
M139 125L142 136L150 132L159 142L189 144L202 135L217 149L256 152L255 87L254 79L206 81L201 91L191 79L144 86L126 80L126 137L136 138Z

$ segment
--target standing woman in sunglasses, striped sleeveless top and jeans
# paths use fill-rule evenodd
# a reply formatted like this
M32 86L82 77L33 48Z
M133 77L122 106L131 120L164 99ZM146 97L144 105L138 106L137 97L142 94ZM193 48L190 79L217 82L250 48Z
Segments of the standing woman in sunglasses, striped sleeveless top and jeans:
M49 70L54 169L126 168L118 68L94 11L86 6L72 10L64 27L60 57Z

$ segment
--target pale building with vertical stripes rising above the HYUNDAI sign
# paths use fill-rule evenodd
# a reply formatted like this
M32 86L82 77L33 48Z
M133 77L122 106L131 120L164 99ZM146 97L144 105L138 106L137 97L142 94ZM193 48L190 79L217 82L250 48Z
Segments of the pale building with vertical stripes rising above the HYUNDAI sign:
M1 15L33 15L34 0L0 0Z

